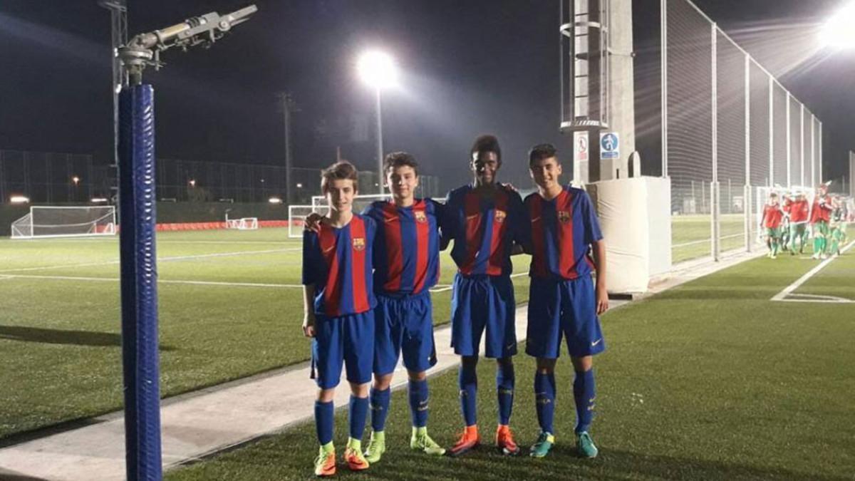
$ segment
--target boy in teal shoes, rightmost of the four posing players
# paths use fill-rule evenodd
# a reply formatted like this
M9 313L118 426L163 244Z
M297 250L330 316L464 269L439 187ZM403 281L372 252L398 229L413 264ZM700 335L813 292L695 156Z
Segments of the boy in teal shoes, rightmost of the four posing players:
M576 448L581 456L593 458L597 447L588 434L596 399L593 355L605 349L598 315L609 308L605 242L587 193L562 187L553 145L535 145L528 153L528 168L538 192L525 199L532 233L526 353L537 358L534 396L540 423L530 454L542 458L555 443L555 365L563 336L575 371ZM592 249L593 265L588 255Z

